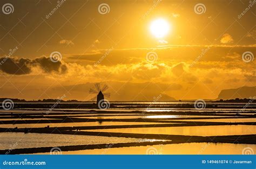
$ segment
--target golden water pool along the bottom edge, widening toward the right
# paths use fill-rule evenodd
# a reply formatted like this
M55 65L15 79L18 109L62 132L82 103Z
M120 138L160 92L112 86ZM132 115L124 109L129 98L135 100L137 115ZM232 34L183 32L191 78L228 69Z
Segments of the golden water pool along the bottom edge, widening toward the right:
M256 145L228 143L183 143L65 151L62 152L62 154L242 154L242 150L253 150L256 152Z

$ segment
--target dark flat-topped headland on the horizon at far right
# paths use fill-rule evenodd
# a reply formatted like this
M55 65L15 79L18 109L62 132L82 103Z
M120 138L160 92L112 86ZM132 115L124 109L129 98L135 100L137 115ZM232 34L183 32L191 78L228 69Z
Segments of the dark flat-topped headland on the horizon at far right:
M227 100L227 99L235 99L235 98L248 99L250 97L255 97L255 96L256 96L256 86L254 87L244 86L244 87L239 87L237 89L222 90L219 93L219 96L217 99L218 100L219 99Z

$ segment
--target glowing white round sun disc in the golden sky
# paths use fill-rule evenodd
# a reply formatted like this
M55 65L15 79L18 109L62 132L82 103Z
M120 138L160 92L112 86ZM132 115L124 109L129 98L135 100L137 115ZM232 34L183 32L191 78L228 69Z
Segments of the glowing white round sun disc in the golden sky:
M156 38L164 38L170 31L170 24L165 19L159 18L151 22L150 32Z

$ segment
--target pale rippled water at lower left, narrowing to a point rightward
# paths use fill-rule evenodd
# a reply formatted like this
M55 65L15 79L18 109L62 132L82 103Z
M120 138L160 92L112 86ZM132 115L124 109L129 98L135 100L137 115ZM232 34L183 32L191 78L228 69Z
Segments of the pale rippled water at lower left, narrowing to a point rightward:
M154 139L137 139L124 137L78 136L69 134L38 134L38 133L0 133L0 150L32 147L56 147L68 145L141 143L156 141ZM12 149L15 149L12 148Z

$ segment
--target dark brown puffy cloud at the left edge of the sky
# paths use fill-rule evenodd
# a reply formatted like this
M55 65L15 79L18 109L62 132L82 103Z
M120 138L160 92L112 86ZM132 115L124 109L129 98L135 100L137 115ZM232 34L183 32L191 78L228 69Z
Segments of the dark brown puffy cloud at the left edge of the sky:
M68 67L61 62L51 62L50 58L0 58L0 71L11 75L28 75L33 69L39 68L45 73L65 73Z

